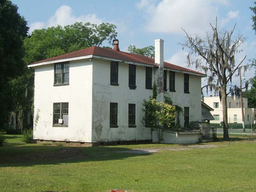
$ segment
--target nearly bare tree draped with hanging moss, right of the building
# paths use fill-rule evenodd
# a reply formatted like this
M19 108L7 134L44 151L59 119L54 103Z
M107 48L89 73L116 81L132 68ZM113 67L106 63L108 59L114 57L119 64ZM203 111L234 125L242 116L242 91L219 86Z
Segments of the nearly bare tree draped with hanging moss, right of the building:
M227 86L232 82L233 75L239 68L247 69L248 65L242 65L246 56L236 63L235 55L241 51L240 46L243 44L243 36L239 35L233 38L236 25L228 32L224 30L220 33L216 26L212 26L212 34L207 33L206 38L202 39L198 36L192 37L186 34L186 41L182 43L183 48L189 48L188 65L194 65L197 69L202 69L208 73L208 85L205 86L216 93L219 93L223 110L223 138L229 139L228 133L228 111L227 111ZM198 56L192 60L191 56Z

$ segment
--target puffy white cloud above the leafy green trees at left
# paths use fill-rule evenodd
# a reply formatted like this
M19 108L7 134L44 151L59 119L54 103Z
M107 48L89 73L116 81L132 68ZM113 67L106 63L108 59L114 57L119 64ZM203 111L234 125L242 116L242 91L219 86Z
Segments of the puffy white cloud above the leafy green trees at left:
M29 27L29 33L34 29L47 28L50 26L66 26L74 24L75 22L90 22L94 24L102 23L102 20L97 18L96 14L86 14L80 16L73 15L73 9L67 5L63 5L56 10L53 16L47 22L34 22Z

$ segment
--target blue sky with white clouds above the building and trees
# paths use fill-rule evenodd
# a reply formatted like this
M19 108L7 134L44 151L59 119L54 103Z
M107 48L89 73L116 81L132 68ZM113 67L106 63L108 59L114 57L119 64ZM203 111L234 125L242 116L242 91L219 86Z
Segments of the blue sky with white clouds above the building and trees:
M239 62L246 55L244 64L256 57L256 33L252 30L254 0L12 0L19 7L34 29L65 26L75 22L115 24L121 51L129 45L137 48L154 46L155 39L164 40L164 60L187 67L188 50L182 50L185 33L205 37L210 32L209 23L220 31L231 30L236 24L234 38L243 35L243 52L236 55ZM104 45L107 45L105 42ZM108 45L109 46L109 45ZM194 67L190 67L195 69ZM255 69L244 73L244 78L254 76ZM205 82L202 79L202 85ZM232 84L238 85L238 77Z

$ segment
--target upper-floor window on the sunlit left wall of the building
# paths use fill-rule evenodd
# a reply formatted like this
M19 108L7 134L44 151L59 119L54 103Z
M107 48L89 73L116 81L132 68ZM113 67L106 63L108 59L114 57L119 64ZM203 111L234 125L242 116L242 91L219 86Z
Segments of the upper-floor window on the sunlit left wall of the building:
M69 83L69 63L55 63L54 65L54 85Z

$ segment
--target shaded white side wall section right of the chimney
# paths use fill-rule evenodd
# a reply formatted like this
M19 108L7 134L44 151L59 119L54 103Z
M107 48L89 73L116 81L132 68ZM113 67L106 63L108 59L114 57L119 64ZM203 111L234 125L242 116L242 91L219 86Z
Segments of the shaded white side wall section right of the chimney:
M184 93L184 74L175 72L175 92L169 91L169 72L167 89L164 96L170 97L174 105L189 107L189 121L201 121L201 77L189 74L189 93ZM180 114L181 126L184 126L184 113Z

